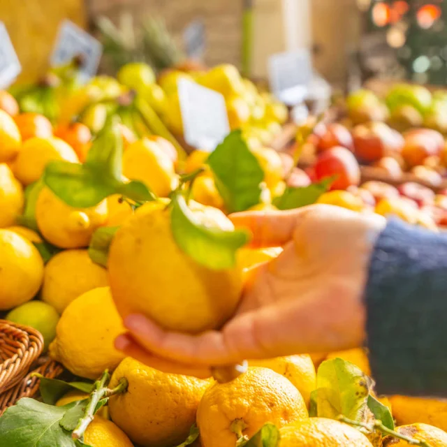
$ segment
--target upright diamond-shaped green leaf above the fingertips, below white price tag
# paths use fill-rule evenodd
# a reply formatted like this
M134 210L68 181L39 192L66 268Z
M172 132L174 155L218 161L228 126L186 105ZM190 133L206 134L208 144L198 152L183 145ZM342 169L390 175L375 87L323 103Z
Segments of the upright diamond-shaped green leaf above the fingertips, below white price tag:
M231 132L207 159L228 212L245 211L261 200L264 171L241 131Z

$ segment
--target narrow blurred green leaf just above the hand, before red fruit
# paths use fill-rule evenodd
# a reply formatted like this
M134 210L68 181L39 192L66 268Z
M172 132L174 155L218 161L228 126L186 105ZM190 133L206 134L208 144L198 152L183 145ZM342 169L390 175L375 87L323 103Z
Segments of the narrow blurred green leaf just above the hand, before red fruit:
M273 205L279 210L294 210L316 203L316 200L328 191L335 177L327 177L321 182L310 184L302 188L288 187L286 191L277 198L274 198Z

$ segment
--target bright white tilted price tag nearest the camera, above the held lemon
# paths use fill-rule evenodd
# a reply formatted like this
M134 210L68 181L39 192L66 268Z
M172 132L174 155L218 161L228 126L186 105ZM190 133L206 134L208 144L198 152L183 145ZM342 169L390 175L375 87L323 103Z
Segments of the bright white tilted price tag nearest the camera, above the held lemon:
M212 152L230 132L223 95L196 82L178 82L185 141L197 149Z

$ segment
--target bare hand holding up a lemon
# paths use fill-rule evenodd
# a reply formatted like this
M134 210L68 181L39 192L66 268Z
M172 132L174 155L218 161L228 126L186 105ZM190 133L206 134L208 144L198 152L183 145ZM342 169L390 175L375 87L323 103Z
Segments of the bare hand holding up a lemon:
M284 247L278 258L251 271L237 314L222 330L201 335L167 332L131 315L117 349L156 369L206 377L210 365L362 345L362 296L383 217L312 205L230 219L251 230L252 247Z

